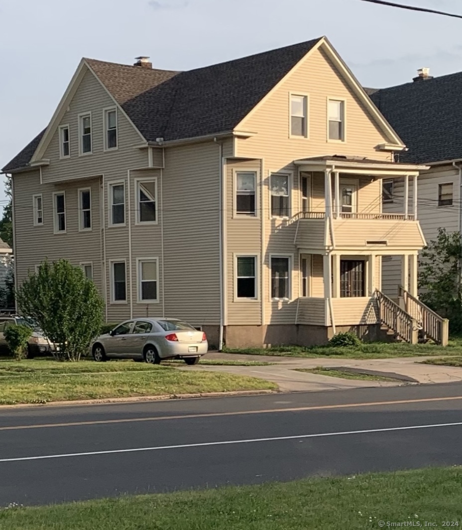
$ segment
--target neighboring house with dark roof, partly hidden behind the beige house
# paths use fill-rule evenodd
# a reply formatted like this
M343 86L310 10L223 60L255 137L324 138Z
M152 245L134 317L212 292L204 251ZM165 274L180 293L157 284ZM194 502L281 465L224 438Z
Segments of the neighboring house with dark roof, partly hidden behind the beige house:
M410 83L366 91L407 146L398 160L430 166L419 176L417 192L419 222L427 242L437 238L440 227L460 231L462 109L456 102L462 92L462 72L433 78L428 68L421 68ZM404 179L384 181L384 211L403 211L405 187ZM412 199L412 186L409 191ZM384 258L383 290L388 296L397 296L401 274L396 258Z

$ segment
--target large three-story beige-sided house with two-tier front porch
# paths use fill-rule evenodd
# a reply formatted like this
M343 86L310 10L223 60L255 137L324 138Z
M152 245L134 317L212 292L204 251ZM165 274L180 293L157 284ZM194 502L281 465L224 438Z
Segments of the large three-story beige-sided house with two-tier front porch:
M188 72L82 59L3 168L17 281L64 257L107 321L180 317L220 348L384 326L415 342L416 316L380 291L391 254L417 295L416 203L382 213L383 179L428 169L394 162L404 148L325 37Z

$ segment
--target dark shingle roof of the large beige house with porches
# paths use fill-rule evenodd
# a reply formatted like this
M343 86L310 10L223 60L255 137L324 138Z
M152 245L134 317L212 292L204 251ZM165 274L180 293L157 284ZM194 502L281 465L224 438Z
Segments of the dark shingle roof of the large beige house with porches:
M233 130L319 40L188 72L86 61L148 142L167 141ZM26 165L42 135L3 171Z

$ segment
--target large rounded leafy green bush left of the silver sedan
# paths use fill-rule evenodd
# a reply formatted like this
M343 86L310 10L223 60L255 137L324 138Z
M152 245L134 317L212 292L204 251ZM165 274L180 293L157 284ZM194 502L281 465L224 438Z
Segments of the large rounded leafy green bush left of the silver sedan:
M94 282L67 260L43 261L16 297L21 313L59 346L55 357L60 360L80 360L100 332L103 300Z

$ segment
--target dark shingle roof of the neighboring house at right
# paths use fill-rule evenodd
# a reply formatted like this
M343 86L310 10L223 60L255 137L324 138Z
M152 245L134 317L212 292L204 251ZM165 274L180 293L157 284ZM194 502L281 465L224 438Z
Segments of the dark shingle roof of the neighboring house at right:
M370 95L403 140L400 162L462 158L462 72L380 89Z

